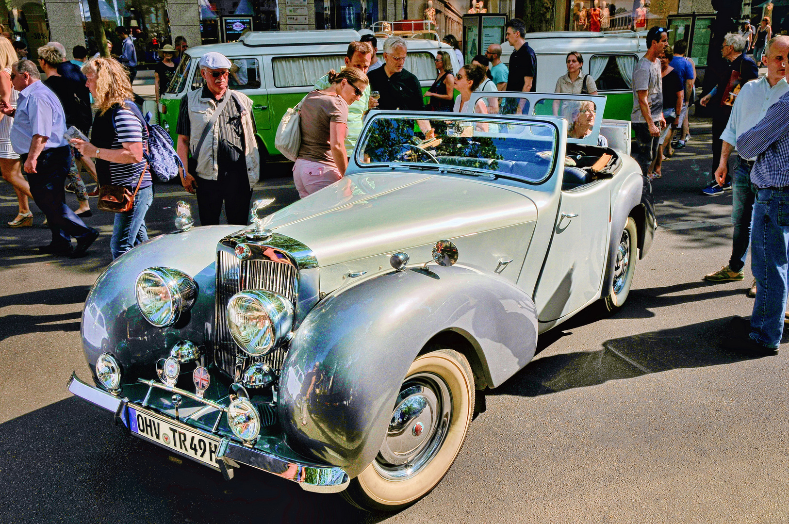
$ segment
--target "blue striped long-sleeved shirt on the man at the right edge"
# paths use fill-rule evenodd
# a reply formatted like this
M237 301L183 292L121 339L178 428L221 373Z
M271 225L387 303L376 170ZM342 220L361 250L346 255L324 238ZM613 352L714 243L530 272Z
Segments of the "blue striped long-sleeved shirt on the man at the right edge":
M750 172L757 188L789 186L789 93L737 138L737 152L746 159L758 157Z

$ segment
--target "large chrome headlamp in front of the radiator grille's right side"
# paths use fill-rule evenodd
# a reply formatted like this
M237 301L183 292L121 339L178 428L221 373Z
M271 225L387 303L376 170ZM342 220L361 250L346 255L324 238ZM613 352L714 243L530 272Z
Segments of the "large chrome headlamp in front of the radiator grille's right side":
M290 335L293 318L293 304L271 291L241 291L227 303L230 335L252 357L275 350Z

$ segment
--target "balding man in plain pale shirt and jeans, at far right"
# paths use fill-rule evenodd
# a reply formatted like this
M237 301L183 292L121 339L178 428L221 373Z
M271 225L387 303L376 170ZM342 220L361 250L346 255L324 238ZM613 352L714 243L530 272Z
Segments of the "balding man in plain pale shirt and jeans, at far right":
M715 170L715 178L723 185L728 171L729 154L737 144L737 137L756 125L768 108L776 103L782 95L789 91L789 84L784 78L786 61L789 55L789 36L776 36L765 47L763 60L767 62L767 74L758 80L746 82L740 89L731 107L731 117L720 139L724 141L720 152L720 163ZM729 264L720 271L705 275L705 280L712 282L728 282L742 280L748 245L750 245L750 220L753 211L753 199L756 188L750 183L750 170L753 160L737 155L735 174L731 179L731 223L735 230L731 246ZM749 297L756 296L756 280L748 290Z

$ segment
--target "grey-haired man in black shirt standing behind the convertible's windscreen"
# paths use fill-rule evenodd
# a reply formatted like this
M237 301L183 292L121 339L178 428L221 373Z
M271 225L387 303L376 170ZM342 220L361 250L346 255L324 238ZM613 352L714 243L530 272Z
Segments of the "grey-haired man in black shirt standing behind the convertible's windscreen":
M419 80L403 69L407 52L406 40L390 36L383 44L383 66L368 71L370 89L381 94L376 109L424 110Z

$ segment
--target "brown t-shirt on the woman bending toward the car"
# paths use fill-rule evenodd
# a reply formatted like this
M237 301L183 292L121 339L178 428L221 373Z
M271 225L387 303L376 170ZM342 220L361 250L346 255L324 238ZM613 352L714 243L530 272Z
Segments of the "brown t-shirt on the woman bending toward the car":
M329 144L329 124L348 124L348 103L339 95L313 91L301 104L301 148L298 158L334 164ZM342 137L345 141L345 137Z

